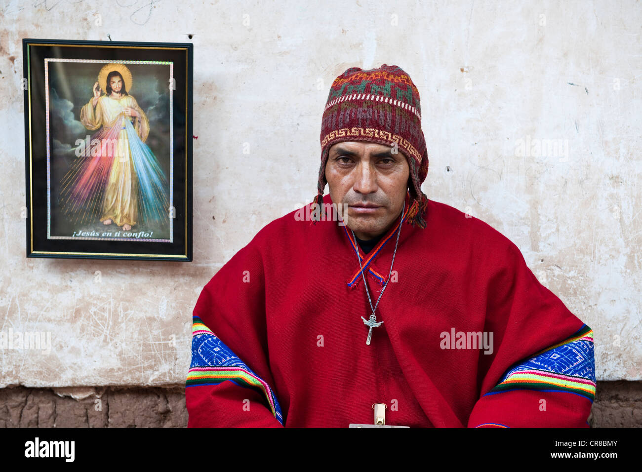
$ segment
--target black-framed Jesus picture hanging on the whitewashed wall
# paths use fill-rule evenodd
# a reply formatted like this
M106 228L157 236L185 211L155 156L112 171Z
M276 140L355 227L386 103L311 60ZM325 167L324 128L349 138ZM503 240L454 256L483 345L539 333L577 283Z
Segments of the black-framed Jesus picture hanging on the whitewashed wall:
M27 257L191 261L193 45L22 52Z

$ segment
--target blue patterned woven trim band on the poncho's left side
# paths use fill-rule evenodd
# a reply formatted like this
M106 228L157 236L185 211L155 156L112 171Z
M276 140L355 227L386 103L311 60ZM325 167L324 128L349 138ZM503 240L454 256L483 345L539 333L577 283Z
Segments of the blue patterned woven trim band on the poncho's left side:
M192 363L185 386L218 385L229 380L256 390L265 396L272 414L283 424L281 405L270 386L223 344L200 318L193 317L192 323Z

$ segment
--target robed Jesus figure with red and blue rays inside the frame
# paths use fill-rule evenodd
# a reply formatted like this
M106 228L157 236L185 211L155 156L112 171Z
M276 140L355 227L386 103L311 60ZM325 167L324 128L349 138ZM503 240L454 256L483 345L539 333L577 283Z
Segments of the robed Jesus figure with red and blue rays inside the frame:
M80 170L72 168L62 180L67 218L98 218L123 231L169 218L168 183L145 144L150 123L128 92L131 87L132 74L124 64L107 64L92 86L92 98L80 110L82 125L98 131L91 137L91 150L89 145L82 148L87 159ZM102 195L100 204L88 204L95 195Z

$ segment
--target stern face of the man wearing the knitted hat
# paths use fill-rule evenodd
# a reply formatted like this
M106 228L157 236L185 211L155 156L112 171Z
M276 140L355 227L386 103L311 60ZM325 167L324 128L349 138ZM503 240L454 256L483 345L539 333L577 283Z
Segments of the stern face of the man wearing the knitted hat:
M346 225L362 240L390 229L401 215L410 168L401 151L363 141L333 144L325 164L325 180L338 211L347 211ZM345 207L347 205L347 207Z

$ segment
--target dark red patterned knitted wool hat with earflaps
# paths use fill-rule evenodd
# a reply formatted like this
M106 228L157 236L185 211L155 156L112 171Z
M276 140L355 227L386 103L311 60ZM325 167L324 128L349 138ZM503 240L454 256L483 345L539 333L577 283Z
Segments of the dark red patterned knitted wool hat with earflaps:
M403 152L410 167L408 223L426 227L428 197L421 184L428 174L428 151L421 130L419 91L401 67L364 71L351 67L330 87L321 122L321 168L315 202L323 207L325 164L330 147L340 141L370 141Z

